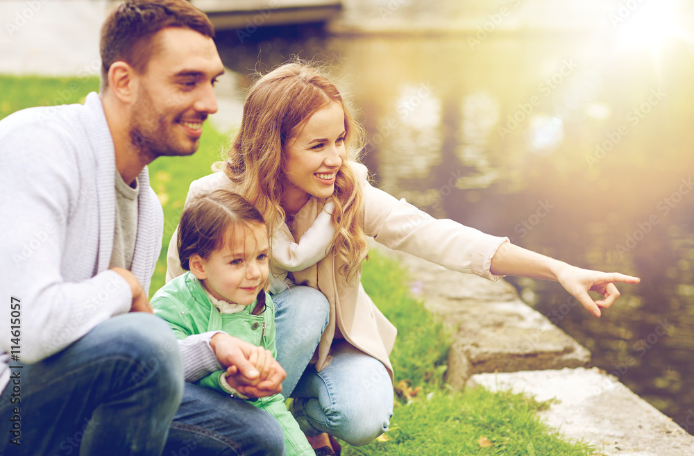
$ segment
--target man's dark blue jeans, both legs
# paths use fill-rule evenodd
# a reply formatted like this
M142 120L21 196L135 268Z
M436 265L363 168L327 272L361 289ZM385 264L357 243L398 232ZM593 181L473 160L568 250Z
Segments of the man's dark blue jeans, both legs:
M284 454L280 426L263 410L184 389L176 339L151 314L115 316L17 370L22 446L10 444L10 387L0 396L1 455L155 456L164 444L167 456Z

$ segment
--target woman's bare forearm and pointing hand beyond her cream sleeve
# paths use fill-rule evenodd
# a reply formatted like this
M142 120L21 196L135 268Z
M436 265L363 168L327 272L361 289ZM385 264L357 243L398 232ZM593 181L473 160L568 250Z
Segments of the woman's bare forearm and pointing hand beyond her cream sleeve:
M638 283L638 277L618 272L600 272L581 269L540 253L505 242L491 259L491 273L499 276L518 276L556 280L596 318L600 309L607 309L619 297L615 282ZM598 292L603 299L593 301L589 291Z

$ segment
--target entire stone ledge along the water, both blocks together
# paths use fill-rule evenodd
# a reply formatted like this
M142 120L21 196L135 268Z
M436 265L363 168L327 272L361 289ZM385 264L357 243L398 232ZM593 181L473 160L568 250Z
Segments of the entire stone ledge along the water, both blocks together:
M694 455L694 436L617 378L585 369L589 351L523 303L508 282L490 282L377 244L371 247L409 269L412 293L452 328L450 385L556 399L540 412L543 419L566 438L597 446L600 455Z

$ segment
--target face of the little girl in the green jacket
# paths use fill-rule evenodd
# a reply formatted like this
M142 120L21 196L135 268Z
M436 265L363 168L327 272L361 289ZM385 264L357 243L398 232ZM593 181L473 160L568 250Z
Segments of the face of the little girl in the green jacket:
M199 267L191 270L215 298L253 304L269 274L267 230L260 223L239 225L227 228L224 238L207 260L193 255Z

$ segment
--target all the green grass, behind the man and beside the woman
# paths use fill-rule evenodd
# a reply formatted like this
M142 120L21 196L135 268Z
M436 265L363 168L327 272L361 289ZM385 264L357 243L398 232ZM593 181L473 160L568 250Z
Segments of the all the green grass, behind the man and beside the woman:
M31 106L82 102L88 92L98 88L97 78L0 75L0 119ZM221 158L226 144L228 135L206 126L195 155L159 158L149 166L151 185L162 202L165 220L162 254L152 279L151 294L164 283L166 247L178 223L189 184L209 174L210 165ZM409 294L406 273L398 264L378 253L372 254L364 263L362 283L398 328L391 355L398 396L391 429L367 446L345 445L343 455L595 454L593 448L568 444L548 430L536 417L536 412L545 405L530 398L484 389L459 393L446 387L449 335L423 304Z

